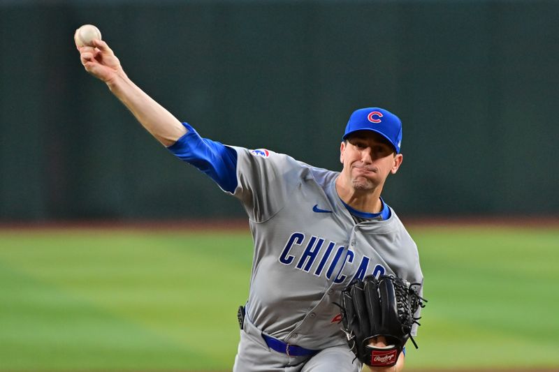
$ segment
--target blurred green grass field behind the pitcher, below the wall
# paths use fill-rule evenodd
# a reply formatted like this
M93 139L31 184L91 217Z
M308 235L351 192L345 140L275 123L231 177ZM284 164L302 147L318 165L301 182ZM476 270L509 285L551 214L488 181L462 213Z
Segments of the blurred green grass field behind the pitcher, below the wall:
M411 228L407 370L559 367L559 228ZM0 371L227 371L248 232L0 230Z

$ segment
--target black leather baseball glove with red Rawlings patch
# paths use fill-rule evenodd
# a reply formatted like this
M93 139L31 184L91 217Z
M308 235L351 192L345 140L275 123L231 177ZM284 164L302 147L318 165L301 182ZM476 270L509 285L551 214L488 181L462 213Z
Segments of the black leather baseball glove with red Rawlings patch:
M357 359L368 366L393 366L408 338L417 348L410 334L412 325L419 325L414 313L427 302L419 297L418 286L395 276L377 280L370 275L342 291L342 331ZM377 336L384 336L386 348L369 345Z

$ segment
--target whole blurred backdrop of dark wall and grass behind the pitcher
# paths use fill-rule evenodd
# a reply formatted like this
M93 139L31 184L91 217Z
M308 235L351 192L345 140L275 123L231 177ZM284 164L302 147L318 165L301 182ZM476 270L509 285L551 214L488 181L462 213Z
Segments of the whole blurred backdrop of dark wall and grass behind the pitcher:
M0 0L0 371L233 365L245 213L85 73L88 23L225 144L340 170L351 112L398 114L383 195L429 300L408 369L559 371L558 20L554 0Z

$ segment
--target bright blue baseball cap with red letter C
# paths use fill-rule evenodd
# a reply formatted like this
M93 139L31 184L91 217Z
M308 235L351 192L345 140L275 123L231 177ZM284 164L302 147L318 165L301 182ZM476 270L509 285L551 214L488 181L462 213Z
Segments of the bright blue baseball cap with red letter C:
M356 131L373 131L388 140L396 154L400 154L402 144L402 121L389 110L379 107L366 107L356 110L349 117L342 140L345 141Z

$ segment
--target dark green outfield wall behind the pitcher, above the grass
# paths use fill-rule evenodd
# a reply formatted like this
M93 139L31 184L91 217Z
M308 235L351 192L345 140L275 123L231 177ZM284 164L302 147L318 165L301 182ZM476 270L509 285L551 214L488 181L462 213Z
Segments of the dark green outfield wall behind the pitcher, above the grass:
M0 1L1 221L243 214L82 70L84 23L206 137L339 169L378 105L399 214L559 214L559 1Z

